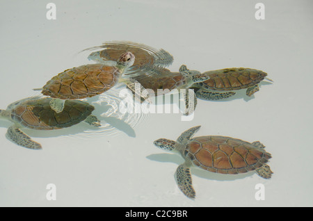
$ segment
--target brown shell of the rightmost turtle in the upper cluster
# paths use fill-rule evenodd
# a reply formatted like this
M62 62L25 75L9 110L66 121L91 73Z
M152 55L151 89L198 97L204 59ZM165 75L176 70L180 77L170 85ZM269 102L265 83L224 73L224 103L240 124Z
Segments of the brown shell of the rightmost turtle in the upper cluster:
M226 68L204 72L210 79L198 85L211 90L239 90L250 88L267 76L265 72L250 68Z

